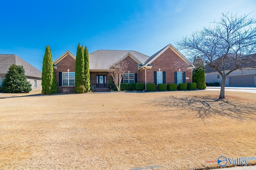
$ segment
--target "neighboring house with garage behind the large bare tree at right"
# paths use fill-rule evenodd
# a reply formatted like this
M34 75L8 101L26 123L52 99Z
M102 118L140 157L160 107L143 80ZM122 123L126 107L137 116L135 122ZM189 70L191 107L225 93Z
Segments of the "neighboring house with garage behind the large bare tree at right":
M250 57L256 57L256 55L250 55ZM227 67L225 68L225 72L227 73L229 70ZM220 74L216 70L214 70L214 68L206 64L205 82L219 82L221 84L221 80L222 76L220 76ZM250 68L248 67L248 65L245 64L243 70L235 70L231 72L226 78L225 86L256 86L256 68Z

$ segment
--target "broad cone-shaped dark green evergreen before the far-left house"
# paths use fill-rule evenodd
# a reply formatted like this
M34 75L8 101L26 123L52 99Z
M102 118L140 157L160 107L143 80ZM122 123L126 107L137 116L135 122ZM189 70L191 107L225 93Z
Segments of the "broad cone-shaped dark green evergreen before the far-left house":
M2 83L2 88L5 93L28 93L32 90L23 66L16 64L10 66Z

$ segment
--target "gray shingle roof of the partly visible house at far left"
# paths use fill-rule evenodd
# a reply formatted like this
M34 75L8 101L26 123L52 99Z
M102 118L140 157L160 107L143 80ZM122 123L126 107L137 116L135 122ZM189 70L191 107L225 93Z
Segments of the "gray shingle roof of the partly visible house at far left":
M6 74L10 65L22 65L25 69L25 75L29 77L41 78L42 72L36 69L31 64L27 63L17 55L2 55L0 54L0 74Z

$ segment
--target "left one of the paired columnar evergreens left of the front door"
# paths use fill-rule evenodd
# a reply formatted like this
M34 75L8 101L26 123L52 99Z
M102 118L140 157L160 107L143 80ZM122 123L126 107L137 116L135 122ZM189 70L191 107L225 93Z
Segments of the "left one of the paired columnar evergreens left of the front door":
M84 80L84 47L80 46L80 43L77 46L76 51L76 83L75 83L75 92L84 93L85 92L85 80Z

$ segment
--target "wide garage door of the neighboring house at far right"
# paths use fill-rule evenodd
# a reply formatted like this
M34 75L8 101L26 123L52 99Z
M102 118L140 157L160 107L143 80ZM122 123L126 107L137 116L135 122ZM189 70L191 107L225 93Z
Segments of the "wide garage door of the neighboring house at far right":
M230 76L230 86L254 86L254 74Z

